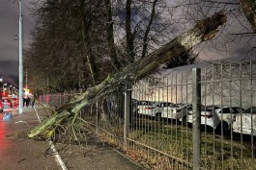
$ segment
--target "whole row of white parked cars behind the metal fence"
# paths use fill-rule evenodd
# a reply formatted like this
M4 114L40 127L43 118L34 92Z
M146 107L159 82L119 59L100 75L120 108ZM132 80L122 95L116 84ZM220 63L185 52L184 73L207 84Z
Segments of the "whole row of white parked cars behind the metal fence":
M192 124L192 104L174 104L169 102L137 101L132 100L133 113L147 116L154 120L167 120L180 124ZM235 132L238 134L256 135L256 108L242 109L227 106L200 106L201 125L208 129L224 134ZM242 119L242 120L241 120ZM243 122L243 124L241 123ZM223 128L222 128L223 127ZM253 131L252 131L253 129ZM253 132L253 133L252 133Z

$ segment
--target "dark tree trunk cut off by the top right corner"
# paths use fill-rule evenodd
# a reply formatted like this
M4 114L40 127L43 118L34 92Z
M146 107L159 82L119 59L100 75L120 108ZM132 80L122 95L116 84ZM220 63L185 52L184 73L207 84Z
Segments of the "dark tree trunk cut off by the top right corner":
M247 20L250 22L252 31L256 33L256 2L255 0L241 0L240 5Z

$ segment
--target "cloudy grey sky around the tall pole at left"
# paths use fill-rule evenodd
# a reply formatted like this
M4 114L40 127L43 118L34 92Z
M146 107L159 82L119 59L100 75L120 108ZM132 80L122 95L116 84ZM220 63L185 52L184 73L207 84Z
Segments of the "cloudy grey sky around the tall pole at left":
M24 46L30 41L34 25L30 10L31 1L22 1ZM16 84L18 76L18 40L15 39L18 39L18 19L18 4L14 3L14 0L0 0L0 77L6 74L14 79Z

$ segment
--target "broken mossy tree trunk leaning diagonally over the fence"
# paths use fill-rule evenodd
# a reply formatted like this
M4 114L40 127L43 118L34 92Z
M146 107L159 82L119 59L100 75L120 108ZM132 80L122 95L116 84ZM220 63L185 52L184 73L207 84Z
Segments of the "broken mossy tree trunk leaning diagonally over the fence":
M146 58L129 64L122 71L108 76L100 85L89 88L86 92L75 97L69 104L55 110L51 117L35 127L28 136L35 137L41 134L49 137L64 120L69 119L71 121L66 122L74 123L80 109L89 106L99 97L109 94L128 79L136 80L156 69L161 63L183 55L202 41L212 39L218 26L225 23L226 15L223 12L216 12L213 16L199 21L194 28L177 36Z

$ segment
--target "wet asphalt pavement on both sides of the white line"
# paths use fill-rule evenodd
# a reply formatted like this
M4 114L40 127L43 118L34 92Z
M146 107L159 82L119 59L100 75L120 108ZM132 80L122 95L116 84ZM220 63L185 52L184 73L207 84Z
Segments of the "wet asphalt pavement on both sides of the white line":
M43 107L36 106L40 117ZM0 114L2 120L3 113ZM23 114L13 111L13 118L0 122L0 169L3 170L59 170L48 142L26 137L32 127L39 123L34 109L24 109ZM69 170L141 170L128 158L106 146L57 145L60 155ZM47 152L46 152L47 151Z

